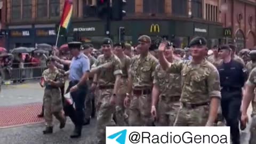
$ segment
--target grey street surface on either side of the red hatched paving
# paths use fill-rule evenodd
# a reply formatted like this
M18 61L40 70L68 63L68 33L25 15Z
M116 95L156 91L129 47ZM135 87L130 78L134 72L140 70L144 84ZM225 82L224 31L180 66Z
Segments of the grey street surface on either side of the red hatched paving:
M42 102L43 89L38 83L25 83L19 85L5 85L2 87L0 94L1 106L15 106L25 103ZM39 112L38 112L39 113ZM251 108L249 110L251 114ZM32 124L26 126L12 127L0 129L0 143L7 144L50 144L50 143L94 143L94 127L95 119L89 126L84 126L82 138L73 140L69 138L69 134L73 130L74 125L68 119L67 125L63 130L58 128L55 122L54 133L52 135L43 135L44 123ZM248 144L249 132L246 129L241 132L242 144Z

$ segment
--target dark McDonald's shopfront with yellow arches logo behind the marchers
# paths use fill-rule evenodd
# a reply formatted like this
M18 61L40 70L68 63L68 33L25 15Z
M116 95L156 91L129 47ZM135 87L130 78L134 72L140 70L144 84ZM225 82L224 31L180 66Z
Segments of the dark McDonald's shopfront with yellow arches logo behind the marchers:
M119 28L125 28L124 40L136 45L141 35L148 35L153 42L166 38L175 43L177 47L186 47L194 36L203 36L209 40L210 46L219 43L222 37L222 27L192 21L173 20L124 20L113 21L110 27L110 37L114 42L119 41ZM105 23L99 21L73 22L69 31L70 41L92 43L96 48L105 35Z

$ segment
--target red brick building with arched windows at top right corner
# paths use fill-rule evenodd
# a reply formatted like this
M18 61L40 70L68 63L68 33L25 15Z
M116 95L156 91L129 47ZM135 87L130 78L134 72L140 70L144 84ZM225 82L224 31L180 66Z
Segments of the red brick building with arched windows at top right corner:
M234 42L239 49L255 46L255 12L255 0L222 0L221 22L227 42Z

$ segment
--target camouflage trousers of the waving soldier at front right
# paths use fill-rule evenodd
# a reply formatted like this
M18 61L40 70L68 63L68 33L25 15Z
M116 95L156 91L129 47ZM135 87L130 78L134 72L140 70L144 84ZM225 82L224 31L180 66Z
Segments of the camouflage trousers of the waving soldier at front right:
M209 116L209 106L183 107L178 111L174 126L205 126Z

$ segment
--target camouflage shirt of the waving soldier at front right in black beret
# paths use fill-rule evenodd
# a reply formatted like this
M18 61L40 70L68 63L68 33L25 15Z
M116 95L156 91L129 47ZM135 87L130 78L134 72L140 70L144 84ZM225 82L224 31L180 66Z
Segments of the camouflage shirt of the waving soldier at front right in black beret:
M221 98L219 72L207 60L200 64L192 61L174 62L166 71L181 73L181 102L205 103L210 102L211 97Z

